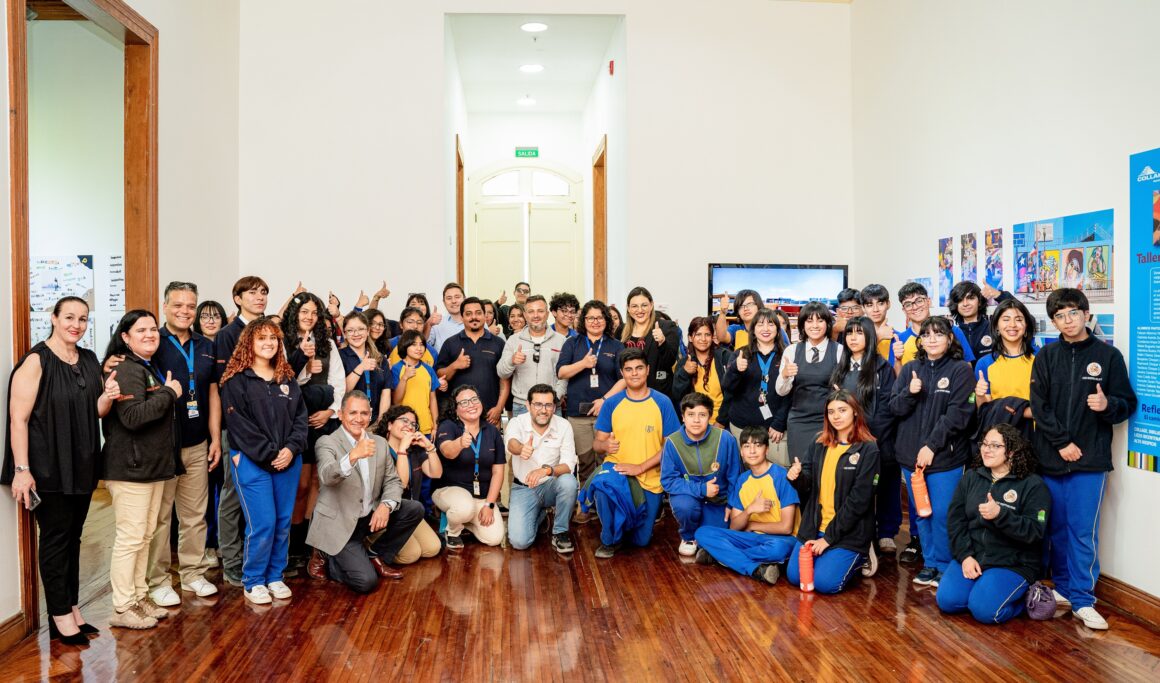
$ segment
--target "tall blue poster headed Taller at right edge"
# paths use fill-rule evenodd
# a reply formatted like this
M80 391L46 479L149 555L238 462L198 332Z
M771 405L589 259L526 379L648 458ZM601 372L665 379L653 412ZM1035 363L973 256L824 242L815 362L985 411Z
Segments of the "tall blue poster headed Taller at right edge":
M1128 464L1160 472L1160 150L1131 159L1132 386L1139 406L1128 428Z

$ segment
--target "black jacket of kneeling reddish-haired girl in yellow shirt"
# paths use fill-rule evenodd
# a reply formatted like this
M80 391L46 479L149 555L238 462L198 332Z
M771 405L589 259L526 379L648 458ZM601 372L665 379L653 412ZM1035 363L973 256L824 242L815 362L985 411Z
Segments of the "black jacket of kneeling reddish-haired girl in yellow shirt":
M826 446L810 445L802 460L802 474L792 482L802 499L798 538L818 538L821 526L821 466ZM865 554L875 535L873 492L878 480L878 446L872 442L853 443L838 460L834 473L834 518L826 526L826 543Z

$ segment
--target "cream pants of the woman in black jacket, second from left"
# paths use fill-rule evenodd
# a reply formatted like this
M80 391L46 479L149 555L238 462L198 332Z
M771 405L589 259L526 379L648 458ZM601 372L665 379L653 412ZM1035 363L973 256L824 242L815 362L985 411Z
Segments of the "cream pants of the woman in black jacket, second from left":
M165 481L107 481L113 496L116 538L109 559L109 583L113 586L113 609L123 612L148 594L148 545L157 526Z

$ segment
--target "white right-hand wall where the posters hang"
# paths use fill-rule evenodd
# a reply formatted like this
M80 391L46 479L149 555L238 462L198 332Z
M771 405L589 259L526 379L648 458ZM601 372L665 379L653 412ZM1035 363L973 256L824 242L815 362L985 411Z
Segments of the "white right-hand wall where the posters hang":
M1116 303L1093 310L1117 314L1126 357L1128 158L1160 146L1158 24L1160 3L1139 0L855 2L853 281L896 292L933 274L940 237L1002 226L1009 242L1015 223L1111 208ZM1160 595L1160 475L1126 467L1124 433L1101 562Z

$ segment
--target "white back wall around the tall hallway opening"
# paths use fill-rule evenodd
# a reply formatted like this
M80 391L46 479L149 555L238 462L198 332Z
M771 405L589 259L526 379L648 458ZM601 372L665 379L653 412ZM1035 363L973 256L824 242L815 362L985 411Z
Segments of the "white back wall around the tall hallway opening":
M430 292L454 274L443 15L528 8L356 6L358 22L318 21L307 0L241 7L240 267L276 292L305 273L307 286L332 288L345 304L383 277L396 291ZM545 0L536 9L625 15L622 64L633 85L610 164L631 165L609 175L632 199L610 206L610 252L632 263L612 260L617 297L646 284L688 320L705 310L705 264L739 249L759 262L850 261L848 6ZM478 140L469 143L470 160ZM785 239L803 231L814 239ZM392 257L404 233L408 254L432 257ZM322 246L333 255L304 269L303 249Z

